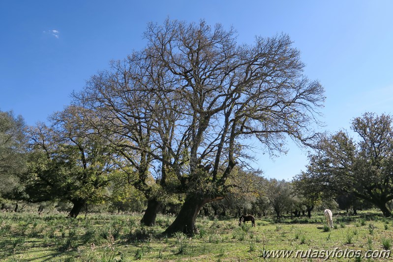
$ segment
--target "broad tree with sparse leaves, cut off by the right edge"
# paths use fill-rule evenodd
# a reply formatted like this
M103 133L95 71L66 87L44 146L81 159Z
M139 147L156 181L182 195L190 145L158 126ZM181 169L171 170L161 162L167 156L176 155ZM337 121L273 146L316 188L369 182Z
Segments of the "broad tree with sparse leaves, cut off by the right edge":
M353 120L351 129L358 140L339 131L319 142L309 156L304 176L319 188L347 193L376 205L390 217L393 199L392 117L365 113Z

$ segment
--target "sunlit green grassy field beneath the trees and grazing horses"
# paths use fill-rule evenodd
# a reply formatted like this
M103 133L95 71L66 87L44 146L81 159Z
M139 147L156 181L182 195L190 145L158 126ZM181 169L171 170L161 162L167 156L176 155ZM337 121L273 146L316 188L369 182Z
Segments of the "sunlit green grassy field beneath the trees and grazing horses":
M173 216L157 216L154 227L142 227L140 219L138 214L67 219L65 215L0 213L0 261L393 260L393 254L387 258L393 246L393 220L377 211L334 216L331 230L324 226L322 212L311 219L257 219L256 227L239 227L235 218L198 218L199 233L193 237L160 235ZM273 258L272 252L279 250L293 253ZM367 256L374 258L365 258L368 250L373 252Z

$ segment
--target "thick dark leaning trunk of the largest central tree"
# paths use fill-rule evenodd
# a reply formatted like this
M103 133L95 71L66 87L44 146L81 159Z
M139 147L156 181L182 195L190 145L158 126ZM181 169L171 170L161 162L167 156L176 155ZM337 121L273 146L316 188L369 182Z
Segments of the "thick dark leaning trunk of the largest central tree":
M175 221L163 232L163 235L173 235L176 232L193 235L196 232L195 220L199 210L212 200L204 196L187 196Z

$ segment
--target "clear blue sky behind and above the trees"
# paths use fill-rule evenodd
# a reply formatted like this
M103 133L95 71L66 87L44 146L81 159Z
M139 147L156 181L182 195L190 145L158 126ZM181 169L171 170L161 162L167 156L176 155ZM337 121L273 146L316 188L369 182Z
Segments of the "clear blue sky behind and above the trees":
M326 90L325 129L349 129L366 111L392 114L393 1L151 0L0 1L0 110L27 124L46 121L69 94L110 60L145 45L148 22L205 19L233 26L239 43L286 33L302 52L305 74ZM257 152L267 177L291 178L305 150L270 159Z

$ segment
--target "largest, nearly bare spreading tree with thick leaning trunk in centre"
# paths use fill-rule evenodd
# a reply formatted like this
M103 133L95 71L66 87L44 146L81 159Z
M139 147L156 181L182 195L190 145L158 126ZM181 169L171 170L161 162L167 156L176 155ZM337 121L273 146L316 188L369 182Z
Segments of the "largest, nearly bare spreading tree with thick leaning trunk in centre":
M284 152L287 137L311 144L324 90L303 75L287 35L246 45L233 28L166 20L149 24L145 38L144 50L76 97L122 137L116 147L134 152L131 164L159 166L162 190L185 194L164 233L192 234L201 207L226 195L231 171L251 159L256 141L270 154Z

